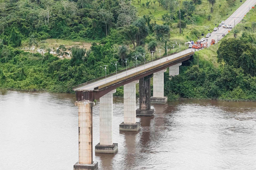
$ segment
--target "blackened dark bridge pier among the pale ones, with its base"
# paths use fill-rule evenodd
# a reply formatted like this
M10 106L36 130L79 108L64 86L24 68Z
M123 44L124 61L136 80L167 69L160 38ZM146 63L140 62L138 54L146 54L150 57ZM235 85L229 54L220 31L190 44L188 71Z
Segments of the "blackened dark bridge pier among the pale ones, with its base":
M136 110L137 116L153 116L154 109L150 105L150 78L152 74L139 79L139 109Z

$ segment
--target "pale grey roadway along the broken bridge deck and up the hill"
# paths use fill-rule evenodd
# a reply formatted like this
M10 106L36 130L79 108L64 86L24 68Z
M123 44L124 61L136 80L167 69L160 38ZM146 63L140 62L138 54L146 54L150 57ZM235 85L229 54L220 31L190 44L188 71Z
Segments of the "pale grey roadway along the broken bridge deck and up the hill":
M233 29L234 29L234 26L236 24L238 24L243 19L244 15L249 11L249 8L251 10L251 7L254 6L255 4L256 4L255 0L247 0L247 1L245 1L236 11L233 12L233 14L231 14L229 16L229 18L227 18L224 21L225 25L230 24L230 25L233 26ZM217 24L216 27L218 27L219 23L216 23L216 24ZM221 39L222 39L222 33L225 33L227 35L228 30L231 30L231 29L220 27L218 31L213 31L211 33L211 36L208 38L208 46L211 43L211 39L215 39L216 43L218 43L218 41L217 41L218 36L221 37ZM161 57L161 60L154 61L153 63L152 62L151 63L147 63L145 65L145 69L149 68L149 67L152 67L154 65L157 65L159 63L163 63L163 62L167 61L167 59L171 60L173 58L182 56L182 55L184 55L186 53L190 53L192 50L194 50L194 49L191 49L191 48L190 49L186 49L186 50L178 52L177 54L174 54L174 55L170 54L171 51L169 51L168 56ZM102 68L97 68L97 69L102 69ZM135 66L134 69L127 70L127 72L125 71L125 72L119 73L119 74L117 74L117 77L116 77L116 75L113 75L111 77L107 77L107 79L98 80L98 81L95 81L93 83L87 84L85 86L74 88L73 90L75 90L75 91L94 90L95 87L101 86L101 85L105 84L106 82L108 83L108 82L111 82L113 80L125 77L126 75L130 75L130 74L136 73L137 70L138 71L144 70L144 65L143 66L139 66L137 69L136 69L136 66ZM102 69L102 71L104 71L104 70Z

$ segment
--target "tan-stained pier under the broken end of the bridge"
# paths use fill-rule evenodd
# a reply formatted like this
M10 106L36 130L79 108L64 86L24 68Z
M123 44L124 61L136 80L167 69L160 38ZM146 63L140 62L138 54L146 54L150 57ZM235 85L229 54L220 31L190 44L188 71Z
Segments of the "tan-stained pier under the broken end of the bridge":
M98 169L98 162L93 162L93 106L89 100L76 101L78 106L78 145L79 162L74 170Z

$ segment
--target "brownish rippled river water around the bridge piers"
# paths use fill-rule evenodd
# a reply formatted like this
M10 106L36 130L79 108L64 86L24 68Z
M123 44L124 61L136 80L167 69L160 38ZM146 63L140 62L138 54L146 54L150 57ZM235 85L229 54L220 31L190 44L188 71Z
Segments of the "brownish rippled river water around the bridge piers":
M74 102L74 94L0 91L0 170L73 169ZM256 102L179 100L152 107L155 116L137 117L140 131L123 132L123 99L114 98L118 152L93 154L99 169L256 169ZM93 146L98 142L99 103L93 107Z

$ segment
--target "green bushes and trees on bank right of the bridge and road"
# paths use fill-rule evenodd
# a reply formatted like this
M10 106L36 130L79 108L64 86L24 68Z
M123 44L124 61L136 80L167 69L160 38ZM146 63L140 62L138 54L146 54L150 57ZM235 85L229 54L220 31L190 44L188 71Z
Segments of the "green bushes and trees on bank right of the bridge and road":
M219 100L256 100L256 11L218 44L196 52L190 66L180 66L180 74L165 78L165 94ZM199 59L198 59L199 57ZM167 74L165 75L167 77Z

